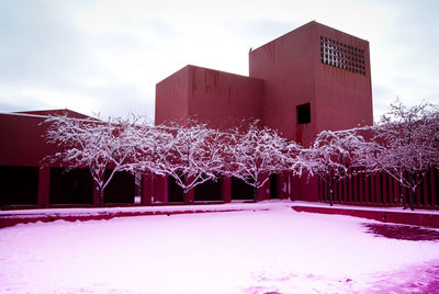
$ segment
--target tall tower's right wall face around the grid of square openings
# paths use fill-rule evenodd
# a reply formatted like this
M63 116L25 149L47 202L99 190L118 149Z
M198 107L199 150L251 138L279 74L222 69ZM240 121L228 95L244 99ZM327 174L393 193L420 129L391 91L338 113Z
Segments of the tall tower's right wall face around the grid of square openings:
M347 129L358 125L372 125L372 88L370 71L369 42L315 24L314 48L320 54L319 36L327 36L341 44L362 49L365 75L352 72L320 63L314 58L314 80L316 98L316 132L324 129ZM339 46L342 47L342 46ZM342 53L345 54L345 53Z

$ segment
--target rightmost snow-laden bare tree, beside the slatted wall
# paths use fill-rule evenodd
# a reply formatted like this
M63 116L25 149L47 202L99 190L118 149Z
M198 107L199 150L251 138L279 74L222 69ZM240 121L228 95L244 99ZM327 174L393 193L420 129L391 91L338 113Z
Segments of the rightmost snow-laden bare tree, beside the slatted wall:
M412 108L396 100L379 124L367 128L371 142L361 165L369 172L385 171L409 190L408 205L431 167L439 167L438 106L423 102Z

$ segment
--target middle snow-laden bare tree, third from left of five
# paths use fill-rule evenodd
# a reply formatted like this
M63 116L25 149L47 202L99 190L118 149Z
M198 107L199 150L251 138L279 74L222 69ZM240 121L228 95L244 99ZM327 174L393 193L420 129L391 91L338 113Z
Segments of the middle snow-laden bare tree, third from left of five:
M273 129L258 127L257 123L250 124L244 133L235 129L229 134L224 171L251 185L255 196L270 174L284 171L288 162L286 139Z

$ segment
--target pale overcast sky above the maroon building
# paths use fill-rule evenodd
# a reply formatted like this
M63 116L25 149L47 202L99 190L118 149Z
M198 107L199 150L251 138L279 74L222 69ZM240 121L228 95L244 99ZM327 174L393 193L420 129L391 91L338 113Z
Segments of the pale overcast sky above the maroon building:
M0 0L0 112L154 117L185 65L248 75L248 50L309 21L370 42L374 116L439 104L436 0Z

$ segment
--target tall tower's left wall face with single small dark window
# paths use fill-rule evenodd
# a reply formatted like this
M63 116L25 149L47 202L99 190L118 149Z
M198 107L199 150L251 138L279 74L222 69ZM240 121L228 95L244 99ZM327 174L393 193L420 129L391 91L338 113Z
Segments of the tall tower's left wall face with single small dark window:
M315 133L313 26L304 25L249 53L249 75L266 81L263 124L296 142ZM311 103L312 121L297 134L296 106Z

